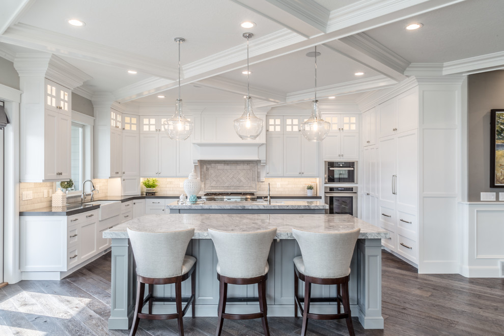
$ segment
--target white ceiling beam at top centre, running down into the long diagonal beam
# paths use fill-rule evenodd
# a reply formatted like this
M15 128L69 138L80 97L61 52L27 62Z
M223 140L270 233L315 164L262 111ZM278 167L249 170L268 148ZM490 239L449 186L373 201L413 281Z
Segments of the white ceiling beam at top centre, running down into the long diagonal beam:
M324 34L329 11L313 0L232 0L297 34Z

